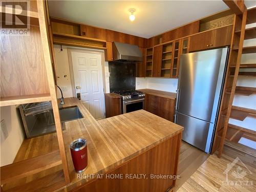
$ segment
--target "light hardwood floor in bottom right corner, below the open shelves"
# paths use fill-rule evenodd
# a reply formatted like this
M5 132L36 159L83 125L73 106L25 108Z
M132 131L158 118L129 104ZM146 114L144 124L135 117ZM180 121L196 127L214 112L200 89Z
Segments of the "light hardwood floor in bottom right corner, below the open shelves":
M193 160L191 159L191 161ZM228 163L230 170L226 175L225 171L228 170ZM188 171L189 167L186 169ZM225 185L226 177L228 181L232 181L231 184L234 183L233 181L236 181L238 185ZM241 183L247 185L241 185ZM176 187L177 189L178 187ZM256 191L256 158L229 146L224 146L220 159L216 154L210 155L177 191Z

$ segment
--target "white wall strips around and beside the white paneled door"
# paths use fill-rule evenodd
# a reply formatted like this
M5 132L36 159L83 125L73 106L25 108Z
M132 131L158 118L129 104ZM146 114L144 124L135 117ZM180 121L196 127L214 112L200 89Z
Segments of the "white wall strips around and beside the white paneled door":
M93 49L84 49L84 48L78 48L78 47L71 47L71 46L62 46L62 51L60 50L60 45L54 45L54 55L56 59L56 68L57 68L57 84L62 90L63 97L73 97L72 93L72 85L71 85L71 77L70 77L70 68L69 68L69 56L68 56L68 49L81 49L81 50L91 50L95 51ZM104 62L104 71L102 73L105 73L105 81L103 81L105 93L110 92L110 86L109 86L109 62ZM65 77L66 75L66 77ZM60 98L61 94L60 91L57 92L57 97Z

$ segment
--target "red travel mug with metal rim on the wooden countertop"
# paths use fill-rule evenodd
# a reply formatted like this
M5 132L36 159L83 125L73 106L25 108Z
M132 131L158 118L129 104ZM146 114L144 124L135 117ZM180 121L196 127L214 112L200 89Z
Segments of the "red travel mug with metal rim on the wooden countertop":
M73 164L77 173L81 173L87 168L87 141L85 139L76 139L70 143L70 152Z

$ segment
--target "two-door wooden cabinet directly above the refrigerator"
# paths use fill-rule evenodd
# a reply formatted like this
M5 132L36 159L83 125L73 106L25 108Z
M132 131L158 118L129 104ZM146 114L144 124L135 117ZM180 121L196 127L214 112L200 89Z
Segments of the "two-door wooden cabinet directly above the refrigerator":
M230 45L232 28L227 26L191 36L189 52Z

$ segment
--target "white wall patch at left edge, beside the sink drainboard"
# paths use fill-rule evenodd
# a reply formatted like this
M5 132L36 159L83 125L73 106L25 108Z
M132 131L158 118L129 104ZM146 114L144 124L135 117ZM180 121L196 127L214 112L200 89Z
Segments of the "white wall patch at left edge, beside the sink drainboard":
M20 145L22 144L25 132L22 122L19 121L18 111L16 106L2 106L1 121L4 119L8 131L8 137L4 140L4 135L1 132L1 166L13 162Z

